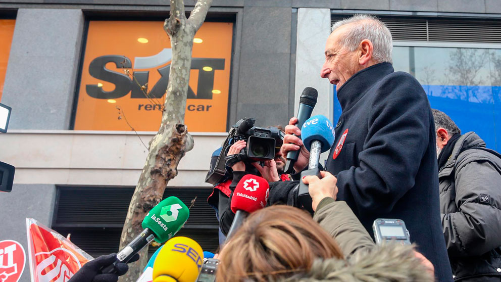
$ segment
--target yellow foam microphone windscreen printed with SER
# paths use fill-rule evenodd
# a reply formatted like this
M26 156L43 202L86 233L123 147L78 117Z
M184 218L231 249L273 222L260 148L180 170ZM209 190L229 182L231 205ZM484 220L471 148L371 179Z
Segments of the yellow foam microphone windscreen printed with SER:
M193 282L202 269L204 253L193 239L174 237L167 241L153 264L153 282Z

